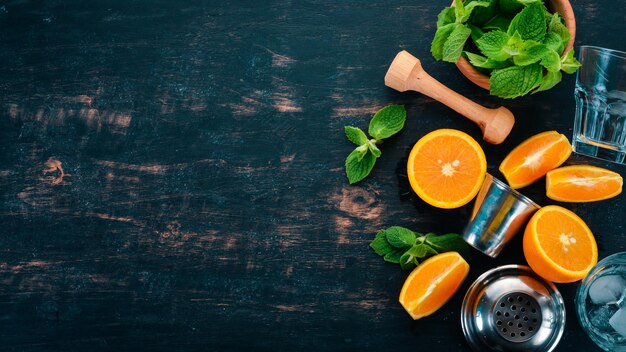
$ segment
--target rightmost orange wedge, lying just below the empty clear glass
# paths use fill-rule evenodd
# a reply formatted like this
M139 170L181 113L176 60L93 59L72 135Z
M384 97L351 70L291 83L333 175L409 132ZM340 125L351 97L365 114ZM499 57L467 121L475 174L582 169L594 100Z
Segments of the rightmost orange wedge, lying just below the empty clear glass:
M561 202L595 202L622 193L620 174L591 165L554 169L546 175L546 193Z

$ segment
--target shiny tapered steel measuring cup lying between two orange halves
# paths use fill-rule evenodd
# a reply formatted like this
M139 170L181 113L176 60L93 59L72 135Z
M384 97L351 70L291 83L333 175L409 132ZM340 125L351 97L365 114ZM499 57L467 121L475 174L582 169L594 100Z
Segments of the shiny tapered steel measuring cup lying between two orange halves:
M539 208L529 198L487 174L476 197L472 218L463 231L463 239L495 258Z

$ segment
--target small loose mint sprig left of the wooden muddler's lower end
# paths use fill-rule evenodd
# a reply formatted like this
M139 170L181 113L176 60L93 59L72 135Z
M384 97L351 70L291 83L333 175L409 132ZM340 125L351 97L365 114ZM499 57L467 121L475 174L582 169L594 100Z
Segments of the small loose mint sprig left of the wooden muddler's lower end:
M372 139L367 138L365 132L358 127L344 127L348 140L358 145L346 158L346 176L350 184L357 183L370 174L381 154L376 145L398 133L404 127L405 121L406 110L403 105L388 105L378 110L370 121L368 133Z

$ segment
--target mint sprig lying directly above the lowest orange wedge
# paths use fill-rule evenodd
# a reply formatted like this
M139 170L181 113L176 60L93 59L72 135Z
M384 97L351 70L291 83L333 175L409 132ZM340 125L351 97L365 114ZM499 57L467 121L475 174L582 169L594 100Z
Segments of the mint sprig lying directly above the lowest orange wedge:
M400 226L378 231L370 247L386 262L400 264L404 270L413 269L439 253L458 252L469 259L470 252L467 243L457 234L423 235Z

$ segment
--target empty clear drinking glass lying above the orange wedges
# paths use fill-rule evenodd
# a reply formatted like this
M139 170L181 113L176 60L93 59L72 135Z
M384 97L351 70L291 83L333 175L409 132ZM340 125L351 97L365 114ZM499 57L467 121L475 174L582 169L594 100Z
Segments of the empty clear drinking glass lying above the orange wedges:
M626 53L581 46L572 147L579 154L624 164Z

